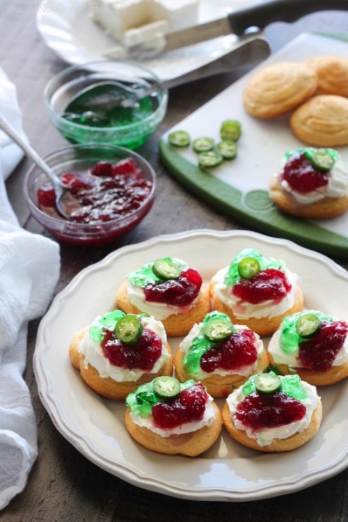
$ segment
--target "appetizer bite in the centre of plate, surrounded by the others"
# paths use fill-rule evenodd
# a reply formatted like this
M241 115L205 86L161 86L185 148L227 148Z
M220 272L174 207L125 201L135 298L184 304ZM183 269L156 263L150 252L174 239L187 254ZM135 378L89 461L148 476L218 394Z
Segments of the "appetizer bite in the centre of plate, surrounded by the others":
M263 372L269 359L257 333L210 312L182 340L174 363L180 381L200 381L212 397L227 397L251 374Z

